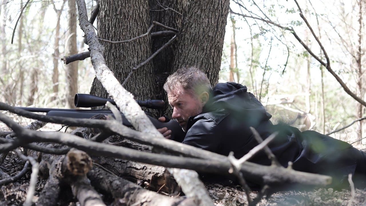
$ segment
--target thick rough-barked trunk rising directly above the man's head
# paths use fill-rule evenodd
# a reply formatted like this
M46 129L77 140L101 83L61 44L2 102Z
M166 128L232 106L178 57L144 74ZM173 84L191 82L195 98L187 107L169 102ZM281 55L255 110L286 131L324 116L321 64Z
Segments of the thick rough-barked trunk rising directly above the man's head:
M197 66L212 86L219 80L229 0L189 1L183 14L173 70Z

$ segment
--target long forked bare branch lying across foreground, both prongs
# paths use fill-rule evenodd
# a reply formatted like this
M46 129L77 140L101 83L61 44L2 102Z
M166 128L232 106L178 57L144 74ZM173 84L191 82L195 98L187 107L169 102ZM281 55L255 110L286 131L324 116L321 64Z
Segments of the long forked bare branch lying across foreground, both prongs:
M7 108L7 110L15 111L14 107L10 107L6 104L0 103L1 108ZM201 150L196 147L184 145L181 143L174 142L172 140L164 138L153 138L150 139L151 134L141 133L130 128L126 128L116 121L103 121L98 119L73 119L73 118L61 118L61 117L46 117L43 115L32 114L24 110L18 110L19 113L25 114L31 118L39 118L42 121L51 121L63 124L71 125L90 125L92 127L108 128L112 132L123 134L125 136L131 136L131 139L136 139L141 142L154 144L160 148L166 148L168 151L176 151L180 154L185 154L187 156L193 156L197 158L183 158L174 157L171 155L160 155L160 154L146 154L146 152L135 151L128 148L121 148L112 145L104 145L100 143L91 142L82 138L75 138L65 133L55 133L55 132L37 132L33 130L26 130L12 121L10 118L3 114L0 114L0 119L5 124L7 124L14 131L22 134L25 139L31 139L32 141L40 142L54 142L66 144L70 147L75 147L83 151L87 151L94 155L104 155L115 158L128 159L143 163L149 163L160 166L168 166L174 168L186 168L194 169L200 172L213 172L219 174L227 174L228 170L231 168L230 163L227 161L227 157L219 155L213 152ZM8 150L10 148L16 148L19 143L4 143L0 145L0 151ZM263 166L255 163L245 162L243 163L240 171L248 178L258 183L265 184L278 184L278 183L300 183L308 185L328 185L331 182L329 176L310 174L304 172L298 172L291 169Z

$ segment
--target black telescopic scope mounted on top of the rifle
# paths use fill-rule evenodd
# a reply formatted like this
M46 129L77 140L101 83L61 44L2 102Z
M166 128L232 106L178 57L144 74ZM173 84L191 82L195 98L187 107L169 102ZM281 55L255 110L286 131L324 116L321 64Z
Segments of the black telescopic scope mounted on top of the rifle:
M106 102L111 102L116 105L115 101L112 99L101 98L99 96L89 95L89 94L75 94L74 104L75 107L97 107L104 106ZM163 109L163 100L136 100L136 102L141 107L152 108L152 109Z

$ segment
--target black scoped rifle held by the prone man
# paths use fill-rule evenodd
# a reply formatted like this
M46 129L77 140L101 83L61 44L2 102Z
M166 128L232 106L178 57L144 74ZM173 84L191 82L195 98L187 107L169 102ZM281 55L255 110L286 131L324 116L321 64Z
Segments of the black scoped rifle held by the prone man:
M111 102L116 105L116 103L112 99L101 98L99 96L89 95L89 94L75 94L74 104L75 107L97 107L104 106L106 102ZM136 102L146 108L153 109L163 109L164 101L163 100L136 100ZM111 110L82 110L82 109L59 109L59 108L37 108L37 107L18 107L26 111L30 112L43 112L46 113L47 116L57 116L57 117L72 117L72 118L91 118L97 114L104 115L113 115ZM182 127L176 120L169 120L168 122L160 122L156 118L153 118L150 113L145 112L147 117L149 117L150 121L157 128L167 127L169 130L172 130L171 139L174 140L183 140L185 133L182 130ZM126 117L124 117L123 113L121 113L123 125L132 127L131 123L128 122Z

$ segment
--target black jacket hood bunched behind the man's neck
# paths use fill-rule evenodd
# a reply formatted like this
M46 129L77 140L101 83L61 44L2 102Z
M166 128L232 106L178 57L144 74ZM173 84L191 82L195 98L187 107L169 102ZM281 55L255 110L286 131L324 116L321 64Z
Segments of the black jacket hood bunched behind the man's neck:
M238 118L255 118L259 121L269 120L272 115L247 87L235 82L218 83L214 87L209 102L203 107L203 113L225 109Z

